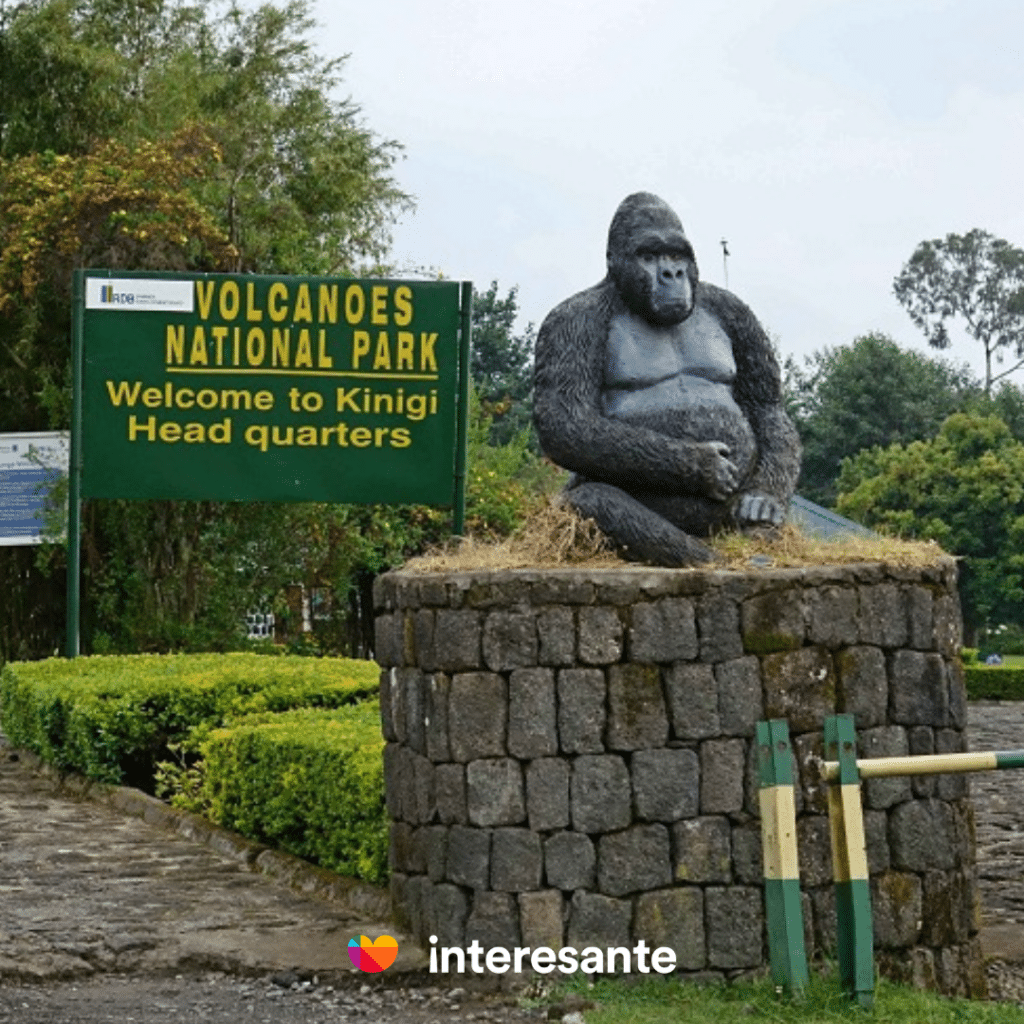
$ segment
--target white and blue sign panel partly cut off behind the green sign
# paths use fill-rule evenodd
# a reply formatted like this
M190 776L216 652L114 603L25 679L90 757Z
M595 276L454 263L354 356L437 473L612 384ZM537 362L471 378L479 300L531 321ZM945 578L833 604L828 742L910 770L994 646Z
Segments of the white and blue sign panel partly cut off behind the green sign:
M46 497L68 475L70 446L62 431L0 434L0 546L42 543Z

